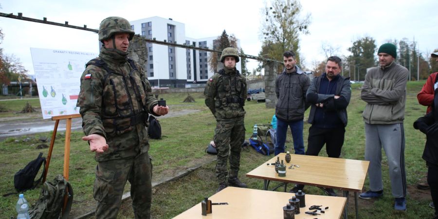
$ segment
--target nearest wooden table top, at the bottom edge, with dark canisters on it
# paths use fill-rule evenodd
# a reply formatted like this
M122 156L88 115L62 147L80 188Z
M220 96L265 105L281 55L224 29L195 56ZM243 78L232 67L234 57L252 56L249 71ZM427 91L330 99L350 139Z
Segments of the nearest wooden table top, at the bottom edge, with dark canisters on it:
M202 216L200 202L175 219L282 219L283 206L291 198L291 193L227 187L211 196L209 200L228 202L228 205L213 205L212 213ZM295 215L295 219L339 219L346 202L347 199L344 197L306 195L306 207L300 208L300 214ZM305 214L311 205L329 206L329 209L318 216Z

